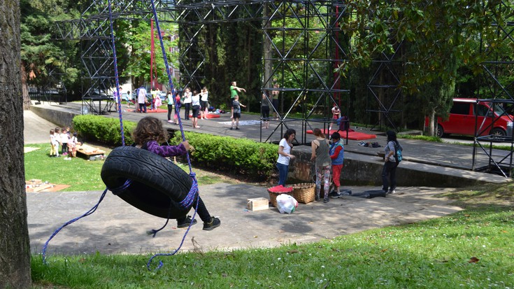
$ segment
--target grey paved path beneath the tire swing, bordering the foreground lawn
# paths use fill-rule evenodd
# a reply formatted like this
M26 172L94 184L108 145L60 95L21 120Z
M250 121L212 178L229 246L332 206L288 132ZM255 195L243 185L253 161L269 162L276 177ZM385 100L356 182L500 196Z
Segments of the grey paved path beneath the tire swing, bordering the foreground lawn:
M350 188L362 192L370 188ZM449 190L449 189L447 189ZM211 214L219 216L221 226L202 230L192 226L182 250L210 251L237 248L274 247L331 239L343 234L401 223L437 218L460 208L434 195L447 190L401 188L396 195L363 199L343 197L327 204L299 204L294 213L280 214L270 207L248 211L246 199L269 197L266 188L255 185L218 183L200 186L200 194ZM50 235L69 220L82 216L97 202L102 192L38 192L27 194L31 251L41 253ZM190 212L191 214L193 211ZM107 192L91 216L78 220L50 241L47 253L155 253L174 251L186 229L177 229L176 220L155 238L146 234L165 220L139 211ZM193 244L195 241L196 246Z

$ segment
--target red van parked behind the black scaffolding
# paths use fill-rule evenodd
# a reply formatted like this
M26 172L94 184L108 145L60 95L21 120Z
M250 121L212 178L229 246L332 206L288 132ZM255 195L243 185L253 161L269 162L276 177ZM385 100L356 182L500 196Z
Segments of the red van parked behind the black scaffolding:
M437 118L437 136L442 137L443 134L465 134L474 136L475 127L477 127L480 136L487 134L497 136L512 136L513 131L513 115L505 113L501 104L487 101L480 101L476 104L477 99L453 99L453 106L450 109L448 120ZM475 119L475 105L477 110L477 119ZM494 117L493 117L494 108ZM501 116L500 116L501 115ZM494 118L494 125L491 127ZM428 126L428 118L425 120L425 126Z

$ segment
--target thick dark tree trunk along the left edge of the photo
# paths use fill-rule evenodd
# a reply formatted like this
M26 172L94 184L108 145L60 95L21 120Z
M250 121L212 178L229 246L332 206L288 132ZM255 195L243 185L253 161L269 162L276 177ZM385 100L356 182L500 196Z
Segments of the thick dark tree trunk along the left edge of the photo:
M20 2L0 6L0 288L30 288L23 159Z

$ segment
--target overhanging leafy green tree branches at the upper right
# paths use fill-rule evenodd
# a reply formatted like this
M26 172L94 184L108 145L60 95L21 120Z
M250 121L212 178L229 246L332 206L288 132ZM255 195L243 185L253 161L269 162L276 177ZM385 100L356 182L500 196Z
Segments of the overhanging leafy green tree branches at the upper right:
M455 92L459 66L476 69L483 61L478 41L498 43L493 22L501 1L415 0L348 1L352 17L341 24L352 37L350 64L367 66L380 53L390 53L393 45L404 43L405 74L401 88L420 93L422 85L437 85L438 94L422 98L418 106L435 117L445 115ZM348 67L340 68L341 73ZM419 100L419 99L418 99ZM420 105L421 104L421 105Z

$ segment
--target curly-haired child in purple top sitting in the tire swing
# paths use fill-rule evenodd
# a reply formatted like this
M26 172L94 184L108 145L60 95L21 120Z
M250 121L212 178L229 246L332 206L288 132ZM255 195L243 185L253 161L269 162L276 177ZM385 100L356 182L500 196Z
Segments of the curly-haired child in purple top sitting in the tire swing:
M183 141L178 146L160 146L168 139L168 133L166 129L162 127L162 122L157 118L147 116L139 120L136 129L132 132L132 138L134 139L134 145L136 148L143 148L149 150L152 153L161 155L162 157L174 157L177 155L185 155L187 150L190 149L188 141ZM197 206L197 198L194 199L193 207ZM210 231L215 227L219 227L221 221L219 218L210 216L207 208L201 198L198 198L198 215L201 220L204 221L204 230ZM177 227L188 227L191 223L191 217L186 216L184 218L177 219ZM196 224L197 220L193 220L192 225Z

